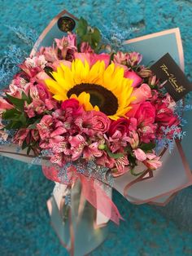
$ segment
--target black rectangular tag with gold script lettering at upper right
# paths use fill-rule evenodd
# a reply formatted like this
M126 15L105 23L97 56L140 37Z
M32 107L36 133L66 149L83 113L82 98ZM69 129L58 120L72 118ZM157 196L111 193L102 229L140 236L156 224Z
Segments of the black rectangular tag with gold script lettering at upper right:
M191 83L168 53L153 64L151 70L160 82L165 82L164 87L175 101L183 98L192 90Z

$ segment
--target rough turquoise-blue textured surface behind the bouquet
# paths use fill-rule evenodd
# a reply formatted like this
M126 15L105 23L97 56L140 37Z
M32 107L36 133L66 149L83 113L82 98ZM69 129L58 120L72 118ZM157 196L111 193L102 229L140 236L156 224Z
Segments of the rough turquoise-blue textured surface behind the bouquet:
M185 73L192 78L192 2L151 1L45 1L0 0L0 57L8 43L20 44L4 25L22 25L38 33L63 9L97 24L114 21L122 29L139 28L130 38L180 27L185 51ZM50 227L46 210L54 184L37 167L0 158L1 215L0 254L9 256L67 255ZM165 208L131 205L114 193L114 200L126 219L120 227L111 224L110 235L93 255L191 255L192 189L181 192ZM174 222L172 222L172 220Z

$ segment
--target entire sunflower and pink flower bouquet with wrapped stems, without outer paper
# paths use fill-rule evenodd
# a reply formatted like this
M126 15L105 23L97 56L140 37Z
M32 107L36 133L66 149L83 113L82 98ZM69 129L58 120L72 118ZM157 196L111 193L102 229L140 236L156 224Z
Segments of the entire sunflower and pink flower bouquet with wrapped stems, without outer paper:
M122 218L111 201L116 180L151 177L184 132L178 104L139 52L115 51L86 20L62 15L65 34L33 49L2 91L1 152L15 145L15 156L31 157L55 181L52 222L81 255L103 241L98 228ZM94 240L77 253L83 229Z

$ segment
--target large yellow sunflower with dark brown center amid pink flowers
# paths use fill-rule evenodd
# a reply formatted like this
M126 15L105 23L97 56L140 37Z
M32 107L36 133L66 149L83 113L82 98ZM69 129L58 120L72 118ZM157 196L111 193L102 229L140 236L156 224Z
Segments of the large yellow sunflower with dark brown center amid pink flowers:
M77 99L85 111L99 110L112 120L125 117L131 109L133 80L124 77L124 68L98 60L92 67L85 60L73 60L71 68L60 64L46 86L59 101Z

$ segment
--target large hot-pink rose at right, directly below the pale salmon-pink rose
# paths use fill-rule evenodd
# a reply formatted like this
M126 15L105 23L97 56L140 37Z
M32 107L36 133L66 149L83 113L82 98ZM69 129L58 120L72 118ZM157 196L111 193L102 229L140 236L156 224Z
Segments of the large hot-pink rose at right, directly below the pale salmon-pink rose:
M127 117L135 117L138 125L147 126L155 122L155 108L146 101L142 104L133 104L132 109L126 114Z

